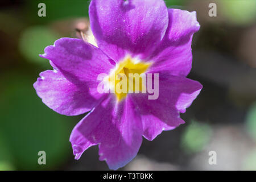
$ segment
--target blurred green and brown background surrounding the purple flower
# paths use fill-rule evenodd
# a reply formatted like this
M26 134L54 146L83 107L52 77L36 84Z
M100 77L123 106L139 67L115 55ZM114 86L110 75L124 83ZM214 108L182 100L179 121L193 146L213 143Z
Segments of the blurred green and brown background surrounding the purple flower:
M38 4L46 4L46 17ZM209 3L217 16L208 15ZM256 1L166 1L168 7L196 11L189 78L204 85L186 123L143 140L138 156L122 169L256 170ZM108 169L97 147L73 159L69 135L84 115L66 117L42 103L32 84L52 69L38 55L61 37L77 38L88 22L89 1L0 2L0 170ZM217 152L217 165L208 152ZM47 164L38 164L46 151Z

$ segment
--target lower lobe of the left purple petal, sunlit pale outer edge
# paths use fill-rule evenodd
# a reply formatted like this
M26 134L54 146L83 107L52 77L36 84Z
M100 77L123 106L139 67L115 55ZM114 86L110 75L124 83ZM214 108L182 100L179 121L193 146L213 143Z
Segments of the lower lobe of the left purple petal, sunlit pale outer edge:
M79 115L88 112L97 104L96 99L90 96L88 88L77 87L56 70L40 73L34 88L43 103L60 114Z

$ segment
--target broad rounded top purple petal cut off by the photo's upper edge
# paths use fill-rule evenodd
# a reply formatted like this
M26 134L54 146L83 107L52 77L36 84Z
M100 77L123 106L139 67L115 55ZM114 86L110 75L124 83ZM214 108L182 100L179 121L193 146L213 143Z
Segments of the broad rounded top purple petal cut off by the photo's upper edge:
M115 61L126 53L147 54L168 26L162 0L92 0L89 16L98 47Z

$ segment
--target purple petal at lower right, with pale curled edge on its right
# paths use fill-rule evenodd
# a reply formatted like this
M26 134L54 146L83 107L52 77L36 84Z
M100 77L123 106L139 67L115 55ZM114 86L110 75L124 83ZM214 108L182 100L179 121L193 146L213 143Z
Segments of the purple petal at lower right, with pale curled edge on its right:
M184 123L184 113L202 89L202 85L184 77L159 77L159 97L148 100L147 94L133 94L143 125L143 136L153 140L163 130L172 130Z

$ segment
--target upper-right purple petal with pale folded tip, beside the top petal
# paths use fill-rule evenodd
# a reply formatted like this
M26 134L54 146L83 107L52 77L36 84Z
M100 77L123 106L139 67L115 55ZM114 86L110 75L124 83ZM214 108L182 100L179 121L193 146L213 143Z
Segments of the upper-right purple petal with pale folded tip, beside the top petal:
M168 71L171 75L187 76L191 71L191 42L200 24L196 12L168 9L169 25L162 42L151 55L155 61L149 72Z

